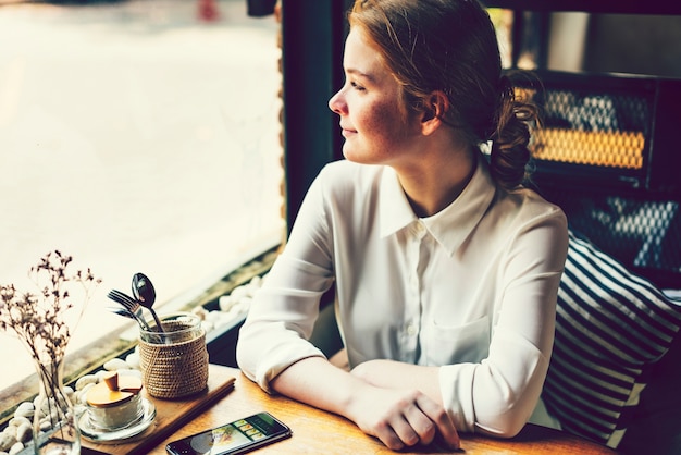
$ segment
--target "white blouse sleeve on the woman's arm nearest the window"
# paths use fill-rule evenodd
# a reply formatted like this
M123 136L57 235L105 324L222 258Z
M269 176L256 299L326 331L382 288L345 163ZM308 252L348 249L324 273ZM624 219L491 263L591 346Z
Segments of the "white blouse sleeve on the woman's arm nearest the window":
M321 180L310 187L287 245L263 281L239 331L237 362L263 390L295 361L323 356L307 341L332 282Z

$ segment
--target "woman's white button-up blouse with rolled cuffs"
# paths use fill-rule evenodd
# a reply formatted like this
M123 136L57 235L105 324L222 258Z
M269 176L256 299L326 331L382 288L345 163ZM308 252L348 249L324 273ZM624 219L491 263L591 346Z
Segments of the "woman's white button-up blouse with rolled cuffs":
M350 366L441 366L457 429L504 434L538 401L567 245L562 211L498 188L482 156L463 193L422 219L392 168L327 164L251 304L239 367L269 391L288 366L323 356L307 339L335 280Z

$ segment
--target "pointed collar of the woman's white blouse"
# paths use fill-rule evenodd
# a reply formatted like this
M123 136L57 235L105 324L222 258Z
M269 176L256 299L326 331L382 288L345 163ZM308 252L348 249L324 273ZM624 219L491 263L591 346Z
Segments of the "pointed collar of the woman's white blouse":
M471 181L454 202L432 217L421 219L431 235L454 255L480 222L495 194L486 160L479 153ZM381 177L379 220L381 237L418 221L395 171L385 167Z

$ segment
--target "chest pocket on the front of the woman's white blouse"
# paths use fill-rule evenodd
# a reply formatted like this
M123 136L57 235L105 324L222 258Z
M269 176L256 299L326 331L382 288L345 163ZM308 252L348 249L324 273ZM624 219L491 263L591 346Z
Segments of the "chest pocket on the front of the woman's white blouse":
M431 366L478 364L490 354L490 318L463 325L439 325L431 321L424 334L425 360Z

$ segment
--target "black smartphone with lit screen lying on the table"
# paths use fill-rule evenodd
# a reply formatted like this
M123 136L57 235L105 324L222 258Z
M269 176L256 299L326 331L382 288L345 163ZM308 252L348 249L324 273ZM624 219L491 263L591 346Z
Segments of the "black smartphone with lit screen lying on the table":
M243 454L290 435L290 429L270 413L259 413L173 441L165 450L172 455Z

